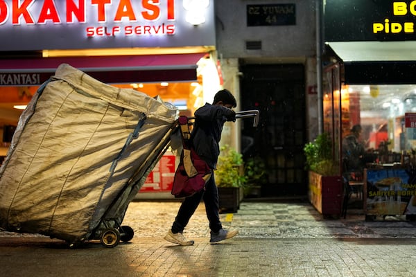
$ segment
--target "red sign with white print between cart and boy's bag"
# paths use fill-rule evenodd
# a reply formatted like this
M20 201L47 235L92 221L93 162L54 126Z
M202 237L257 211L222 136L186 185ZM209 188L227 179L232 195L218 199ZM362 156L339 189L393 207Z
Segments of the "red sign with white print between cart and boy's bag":
M144 181L140 193L171 192L175 177L175 155L164 154Z

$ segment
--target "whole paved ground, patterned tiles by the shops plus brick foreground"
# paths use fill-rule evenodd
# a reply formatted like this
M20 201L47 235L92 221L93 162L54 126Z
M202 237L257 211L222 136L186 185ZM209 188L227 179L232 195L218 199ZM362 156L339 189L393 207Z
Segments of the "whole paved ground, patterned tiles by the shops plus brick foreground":
M180 247L163 239L179 202L132 202L124 225L135 230L113 249L87 242L68 249L41 235L0 232L3 276L416 276L415 222L365 222L360 211L324 220L307 202L243 202L223 214L240 234L209 244L203 204Z

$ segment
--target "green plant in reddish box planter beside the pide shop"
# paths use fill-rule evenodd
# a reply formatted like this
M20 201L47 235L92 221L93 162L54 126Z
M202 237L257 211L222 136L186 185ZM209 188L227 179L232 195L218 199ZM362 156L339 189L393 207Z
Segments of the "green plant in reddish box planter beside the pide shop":
M304 146L309 170L309 201L323 215L339 217L343 208L343 182L333 161L329 134L322 133Z

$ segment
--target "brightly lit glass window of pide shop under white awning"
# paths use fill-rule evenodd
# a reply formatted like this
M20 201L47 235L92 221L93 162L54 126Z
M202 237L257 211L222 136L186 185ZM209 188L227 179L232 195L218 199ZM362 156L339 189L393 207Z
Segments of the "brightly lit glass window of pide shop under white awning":
M416 148L415 128L405 125L405 114L416 112L416 84L354 84L344 85L342 91L342 111L348 114L349 127L361 125L367 152L392 156ZM379 159L391 162L396 158Z

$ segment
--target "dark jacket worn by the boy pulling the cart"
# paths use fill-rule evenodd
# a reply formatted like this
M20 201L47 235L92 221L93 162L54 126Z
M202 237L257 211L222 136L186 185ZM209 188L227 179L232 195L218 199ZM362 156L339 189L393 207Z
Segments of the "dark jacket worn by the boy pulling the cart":
M236 113L223 105L206 103L195 111L195 118L193 148L210 168L216 168L223 125L226 121L234 121Z

